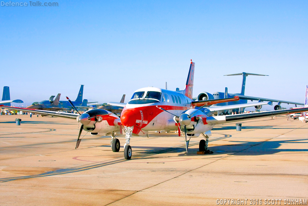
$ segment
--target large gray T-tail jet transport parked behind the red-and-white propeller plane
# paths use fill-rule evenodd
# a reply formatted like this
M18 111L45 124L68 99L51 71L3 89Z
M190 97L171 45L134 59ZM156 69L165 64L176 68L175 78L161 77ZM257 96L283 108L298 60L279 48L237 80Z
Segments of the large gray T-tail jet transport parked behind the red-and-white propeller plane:
M208 92L201 92L197 98L198 101L201 100L211 100L211 99L224 99L224 98L231 98L231 97L239 97L240 100L238 101L233 101L233 102L226 102L226 103L219 103L216 104L216 106L226 106L226 105L235 105L235 104L245 104L247 103L247 100L257 100L259 102L263 102L263 101L270 101L270 102L278 102L277 105L274 106L274 110L280 110L281 103L287 103L287 104L295 104L295 107L297 107L297 105L304 105L303 103L297 103L297 102L289 102L289 101L284 101L284 100L277 100L277 99L267 99L267 98L262 98L262 97L252 97L252 96L246 96L244 95L245 93L245 84L246 84L246 77L248 75L255 75L255 76L268 76L268 75L264 75L264 74L252 74L252 73L237 73L237 74L228 74L228 75L224 75L224 76L235 76L235 75L243 75L243 80L242 80L242 85L241 85L241 93L236 93L236 94L230 94L228 93L228 88L225 88L225 92L214 92L213 95L208 93ZM259 106L255 106L256 109L261 109L262 105ZM243 111L245 109L245 107L241 107L240 109L234 109L233 111L239 112Z

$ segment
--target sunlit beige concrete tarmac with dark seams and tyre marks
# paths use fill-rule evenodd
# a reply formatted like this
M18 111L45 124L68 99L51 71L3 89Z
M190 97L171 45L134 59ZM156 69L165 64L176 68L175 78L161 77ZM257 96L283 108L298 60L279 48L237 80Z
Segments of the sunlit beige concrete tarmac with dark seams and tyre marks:
M21 125L15 118L22 119ZM125 160L110 136L85 135L76 120L0 116L0 205L217 205L217 199L307 199L308 124L263 118L212 130L198 155L191 138L150 132L132 137ZM244 202L245 203L245 202ZM228 202L226 203L228 205ZM230 203L231 204L231 203ZM244 204L245 205L245 204ZM279 201L278 201L279 205Z

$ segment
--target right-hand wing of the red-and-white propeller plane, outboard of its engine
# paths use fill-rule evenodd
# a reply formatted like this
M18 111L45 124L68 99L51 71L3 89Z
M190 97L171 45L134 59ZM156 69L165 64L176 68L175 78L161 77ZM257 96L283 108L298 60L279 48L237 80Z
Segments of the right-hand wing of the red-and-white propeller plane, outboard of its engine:
M308 111L308 107L299 108L299 109L284 109L284 110L275 110L275 111L264 111L264 112L253 112L247 114L237 114L237 115L225 115L225 116L210 116L206 118L206 123L209 125L215 124L225 124L230 122L239 122L245 120L253 120L263 117L286 115L292 113L298 113Z

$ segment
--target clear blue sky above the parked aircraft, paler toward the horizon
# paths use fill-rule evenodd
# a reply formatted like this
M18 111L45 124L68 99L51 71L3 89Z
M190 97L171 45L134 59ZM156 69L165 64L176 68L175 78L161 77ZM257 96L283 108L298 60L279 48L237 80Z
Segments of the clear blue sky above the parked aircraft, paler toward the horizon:
M223 75L248 72L269 76L247 77L246 95L304 101L308 1L57 2L0 7L11 99L75 100L84 84L84 99L127 102L142 87L184 89L193 59L194 96L240 92L241 76Z

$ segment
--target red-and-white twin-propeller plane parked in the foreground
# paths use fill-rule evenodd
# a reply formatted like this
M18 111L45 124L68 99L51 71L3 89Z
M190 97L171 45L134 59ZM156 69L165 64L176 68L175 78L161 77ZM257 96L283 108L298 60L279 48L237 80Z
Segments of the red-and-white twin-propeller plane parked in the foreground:
M117 134L122 133L122 127L125 131L125 145L124 157L131 159L132 148L130 146L130 139L132 136L147 136L149 131L155 130L176 130L184 133L184 141L186 144L186 151L188 151L188 144L190 138L199 137L200 134L205 137L199 143L199 150L206 153L212 153L208 150L209 136L211 136L211 129L216 124L224 124L229 122L238 122L249 119L257 119L269 116L277 116L283 114L290 114L296 112L308 111L308 107L299 109L286 109L278 111L266 111L260 113L248 113L226 116L210 116L213 111L227 110L227 106L220 107L206 107L209 105L238 101L238 97L213 99L203 101L193 101L193 77L194 77L195 63L190 62L186 88L181 91L164 90L160 88L146 87L136 90L131 100L127 103L108 103L114 106L124 106L124 109L119 116L110 111L102 109L92 109L83 114L71 114L55 111L31 110L18 107L14 108L21 111L32 111L37 114L58 116L63 118L77 119L82 126L79 131L79 136L76 142L76 149L80 144L80 136L82 130L91 132L91 135L106 135L111 132L111 148L113 152L119 152L120 141L116 138ZM68 98L67 98L68 99ZM69 99L68 99L69 100ZM71 103L71 101L69 100ZM261 102L260 102L261 103ZM73 103L71 103L73 106ZM234 105L232 108L235 108ZM238 104L239 107L243 105ZM194 107L204 108L194 109ZM248 107L248 106L245 106ZM77 109L76 109L77 110Z

